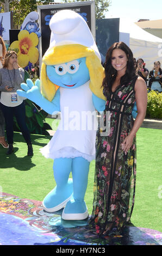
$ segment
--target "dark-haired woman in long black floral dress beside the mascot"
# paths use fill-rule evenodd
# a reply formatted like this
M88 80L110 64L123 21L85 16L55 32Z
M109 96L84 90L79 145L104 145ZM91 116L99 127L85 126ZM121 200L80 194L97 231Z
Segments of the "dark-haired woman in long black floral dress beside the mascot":
M107 98L110 131L99 129L96 137L94 208L90 227L98 235L120 235L130 220L134 206L136 176L135 135L147 108L147 88L143 78L135 76L133 53L123 42L113 44L106 56L103 93ZM132 117L134 102L138 109Z

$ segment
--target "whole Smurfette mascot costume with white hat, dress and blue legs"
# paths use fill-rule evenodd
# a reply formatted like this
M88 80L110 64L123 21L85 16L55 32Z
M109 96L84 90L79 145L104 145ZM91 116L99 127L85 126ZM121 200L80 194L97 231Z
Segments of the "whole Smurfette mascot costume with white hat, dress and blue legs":
M104 69L94 38L82 16L71 10L53 15L51 41L42 59L41 83L31 80L17 93L49 114L61 112L58 130L41 149L54 159L56 186L43 199L48 212L63 210L64 220L84 220L90 161L95 159L96 110L104 110ZM89 123L88 123L89 122ZM72 172L72 179L69 174Z

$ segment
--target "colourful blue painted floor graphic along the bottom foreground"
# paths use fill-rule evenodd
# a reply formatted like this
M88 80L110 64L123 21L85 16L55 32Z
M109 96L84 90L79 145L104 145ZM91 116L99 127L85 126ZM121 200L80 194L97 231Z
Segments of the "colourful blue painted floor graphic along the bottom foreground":
M41 202L2 193L0 245L162 245L157 230L127 226L122 235L98 237L88 218L65 221L61 212L48 213Z

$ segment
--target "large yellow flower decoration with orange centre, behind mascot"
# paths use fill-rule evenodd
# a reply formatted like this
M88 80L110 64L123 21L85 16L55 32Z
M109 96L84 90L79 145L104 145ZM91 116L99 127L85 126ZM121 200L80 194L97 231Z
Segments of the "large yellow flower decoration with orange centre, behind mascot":
M39 59L39 51L37 46L39 43L38 35L35 33L29 34L28 31L22 30L18 33L18 40L12 42L10 49L18 48L17 58L18 64L23 68L29 62L35 64Z

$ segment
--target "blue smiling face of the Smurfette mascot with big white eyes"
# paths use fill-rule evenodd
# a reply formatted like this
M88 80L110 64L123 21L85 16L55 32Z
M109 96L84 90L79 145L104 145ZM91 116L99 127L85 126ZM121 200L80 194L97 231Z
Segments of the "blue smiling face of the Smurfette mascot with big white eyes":
M52 83L69 89L82 86L90 79L85 57L63 64L47 65L46 72Z

